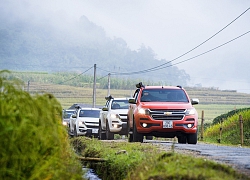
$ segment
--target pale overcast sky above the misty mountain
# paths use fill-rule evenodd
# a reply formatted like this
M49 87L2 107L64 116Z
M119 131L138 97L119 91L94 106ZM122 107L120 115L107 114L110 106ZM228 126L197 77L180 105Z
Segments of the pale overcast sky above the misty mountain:
M19 1L20 2L20 1ZM107 36L123 38L137 50L144 44L157 59L173 60L220 31L250 7L249 0L30 0L33 13L85 15ZM17 5L18 6L18 5ZM16 6L16 8L17 8ZM250 31L250 10L178 63ZM250 93L250 33L205 55L177 65L190 86ZM166 68L167 70L167 68Z

